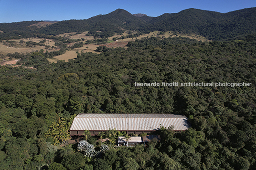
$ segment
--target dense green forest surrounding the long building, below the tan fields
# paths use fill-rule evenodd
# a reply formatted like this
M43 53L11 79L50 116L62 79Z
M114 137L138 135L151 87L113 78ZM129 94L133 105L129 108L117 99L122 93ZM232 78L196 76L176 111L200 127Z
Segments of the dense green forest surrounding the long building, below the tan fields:
M20 62L36 67L0 66L0 169L256 167L255 35L212 42L145 38L129 42L127 50L78 53L68 62L50 64L43 51L26 54ZM251 85L136 87L135 82ZM64 146L72 118L81 112L180 113L192 128L173 132L163 127L160 142L112 148L89 158L76 145ZM100 142L88 141L101 150Z

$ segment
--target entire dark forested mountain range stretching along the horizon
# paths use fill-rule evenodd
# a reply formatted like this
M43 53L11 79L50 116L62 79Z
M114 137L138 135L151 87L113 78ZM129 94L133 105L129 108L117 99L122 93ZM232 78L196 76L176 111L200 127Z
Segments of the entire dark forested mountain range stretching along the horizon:
M63 20L44 27L31 26L38 22L42 21L0 23L0 40L84 31L89 31L88 35L103 38L115 33L120 35L125 30L137 30L142 33L155 30L195 33L209 40L225 40L256 33L256 8L227 13L187 9L178 13L165 13L159 17L132 15L126 10L117 9L87 20Z

